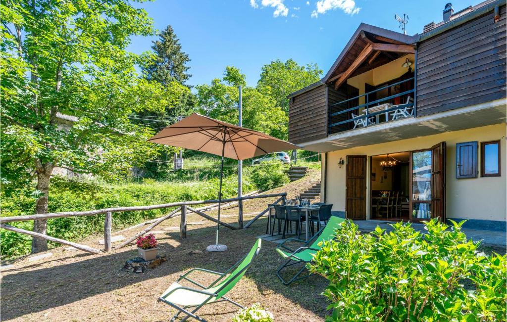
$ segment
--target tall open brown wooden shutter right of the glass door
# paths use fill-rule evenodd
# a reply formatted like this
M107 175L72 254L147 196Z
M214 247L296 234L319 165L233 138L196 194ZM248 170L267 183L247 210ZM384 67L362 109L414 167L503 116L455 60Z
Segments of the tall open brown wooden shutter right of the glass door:
M431 218L445 222L446 143L431 147Z

